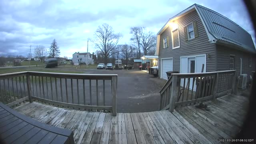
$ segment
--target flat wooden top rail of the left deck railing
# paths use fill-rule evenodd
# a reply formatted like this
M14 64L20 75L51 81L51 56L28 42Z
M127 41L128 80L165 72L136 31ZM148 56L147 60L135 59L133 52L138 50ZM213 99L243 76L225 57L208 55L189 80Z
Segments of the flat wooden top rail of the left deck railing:
M72 74L72 73L57 73L57 72L33 72L33 71L24 71L24 72L13 72L8 74L0 74L2 76L12 76L12 75L20 75L20 74L50 74L50 75L58 75L58 76L85 76L85 77L112 77L118 76L117 74Z

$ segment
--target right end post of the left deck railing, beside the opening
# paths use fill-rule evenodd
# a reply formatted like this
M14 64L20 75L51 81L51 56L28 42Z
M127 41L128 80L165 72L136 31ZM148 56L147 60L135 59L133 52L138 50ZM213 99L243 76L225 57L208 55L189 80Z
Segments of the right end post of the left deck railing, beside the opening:
M117 77L112 76L112 115L116 116L116 87L117 87Z

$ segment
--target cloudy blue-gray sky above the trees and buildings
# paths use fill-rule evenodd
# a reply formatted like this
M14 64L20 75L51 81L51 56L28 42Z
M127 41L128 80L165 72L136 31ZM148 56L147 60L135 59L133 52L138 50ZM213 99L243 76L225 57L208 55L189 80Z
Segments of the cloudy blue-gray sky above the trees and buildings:
M255 34L241 0L0 0L0 55L27 56L36 45L50 47L55 38L60 56L86 52L87 39L108 23L129 43L129 28L144 26L157 33L169 18L192 4L200 4L230 18ZM95 52L89 43L89 52Z

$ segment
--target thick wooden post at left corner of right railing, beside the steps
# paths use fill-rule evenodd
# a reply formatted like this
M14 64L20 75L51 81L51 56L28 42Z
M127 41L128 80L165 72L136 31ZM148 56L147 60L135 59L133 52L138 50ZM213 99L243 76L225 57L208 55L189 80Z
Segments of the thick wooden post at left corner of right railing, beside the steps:
M171 97L170 97L170 104L169 104L169 111L173 112L175 108L175 102L177 101L178 98L178 92L177 92L177 80L178 76L172 75L172 92L171 92Z

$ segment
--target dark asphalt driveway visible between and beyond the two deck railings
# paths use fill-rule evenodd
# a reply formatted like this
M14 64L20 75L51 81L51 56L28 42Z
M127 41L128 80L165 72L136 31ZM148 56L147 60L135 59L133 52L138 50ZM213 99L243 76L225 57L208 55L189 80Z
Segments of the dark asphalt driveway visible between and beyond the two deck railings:
M87 70L86 74L118 74L118 112L150 112L159 110L159 90L165 80L140 70Z

